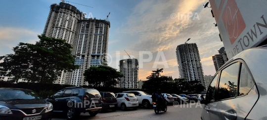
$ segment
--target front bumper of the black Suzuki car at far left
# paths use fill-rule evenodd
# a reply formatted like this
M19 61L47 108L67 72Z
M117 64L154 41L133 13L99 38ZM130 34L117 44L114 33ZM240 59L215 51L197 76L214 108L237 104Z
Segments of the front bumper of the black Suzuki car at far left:
M52 114L53 112L42 112L40 114L35 114L35 115L25 115L21 111L18 110L11 110L12 114L0 114L0 120L23 120L23 118L29 118L29 117L37 117L37 116L42 116L42 119L40 120L49 120L52 119Z

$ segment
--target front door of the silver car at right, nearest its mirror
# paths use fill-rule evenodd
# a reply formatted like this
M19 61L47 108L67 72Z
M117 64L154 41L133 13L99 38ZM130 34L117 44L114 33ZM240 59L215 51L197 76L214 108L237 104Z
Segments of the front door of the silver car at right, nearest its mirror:
M202 114L201 114L202 120L211 120L210 108L214 106L215 93L217 90L217 81L218 81L218 74L215 75L215 77L213 78L208 88L207 97L206 97L207 104L204 104L204 109L202 110Z

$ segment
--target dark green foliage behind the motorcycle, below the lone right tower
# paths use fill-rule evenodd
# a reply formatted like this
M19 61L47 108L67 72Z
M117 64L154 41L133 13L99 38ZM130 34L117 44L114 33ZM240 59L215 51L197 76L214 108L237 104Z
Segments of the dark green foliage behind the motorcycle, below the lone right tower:
M205 90L205 87L198 80L175 79L174 82L167 82L170 81L170 77L161 76L161 73L163 73L163 69L152 71L151 75L146 78L148 80L144 81L142 88L160 89L161 92L166 93L200 93Z

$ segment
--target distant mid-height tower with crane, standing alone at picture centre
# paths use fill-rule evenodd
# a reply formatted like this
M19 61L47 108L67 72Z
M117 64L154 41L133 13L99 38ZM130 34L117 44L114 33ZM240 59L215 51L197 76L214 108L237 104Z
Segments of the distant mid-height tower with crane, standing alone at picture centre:
M121 88L138 88L138 69L137 59L120 60L120 72L124 75L119 81Z

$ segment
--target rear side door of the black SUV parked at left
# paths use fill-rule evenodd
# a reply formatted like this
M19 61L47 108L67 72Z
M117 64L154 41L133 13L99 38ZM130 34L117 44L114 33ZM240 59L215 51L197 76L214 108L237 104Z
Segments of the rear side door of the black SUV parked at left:
M68 108L68 102L72 95L72 89L67 89L63 92L62 97L58 98L59 111L65 111Z

